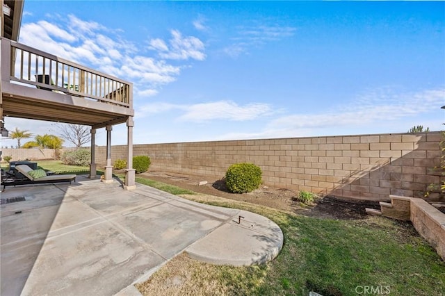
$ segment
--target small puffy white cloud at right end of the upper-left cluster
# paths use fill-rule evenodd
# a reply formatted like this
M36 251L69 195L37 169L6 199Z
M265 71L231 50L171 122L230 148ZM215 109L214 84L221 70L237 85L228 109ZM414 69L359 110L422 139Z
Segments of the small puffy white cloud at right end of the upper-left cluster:
M161 58L169 60L188 60L189 58L204 60L206 58L204 43L201 40L193 36L183 37L178 30L172 30L170 33L172 38L168 44L159 38L152 39L149 41L149 49L156 50Z

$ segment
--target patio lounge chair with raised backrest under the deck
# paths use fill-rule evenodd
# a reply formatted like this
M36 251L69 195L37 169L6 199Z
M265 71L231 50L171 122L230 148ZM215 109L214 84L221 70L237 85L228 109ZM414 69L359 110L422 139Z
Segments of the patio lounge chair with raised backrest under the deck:
M16 185L27 185L27 184L42 184L42 183L59 183L59 182L70 182L76 181L75 174L53 174L50 176L32 176L33 169L28 165L17 165L15 169L22 175L24 178L6 178L1 180L1 185L4 188L6 186L16 186ZM44 171L43 171L44 172ZM42 173L41 173L42 174Z

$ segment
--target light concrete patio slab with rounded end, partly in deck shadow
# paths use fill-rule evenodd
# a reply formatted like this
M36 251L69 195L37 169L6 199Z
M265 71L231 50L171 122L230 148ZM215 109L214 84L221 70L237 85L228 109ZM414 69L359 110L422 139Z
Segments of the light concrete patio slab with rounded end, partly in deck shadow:
M265 217L139 184L129 191L78 176L72 185L1 193L11 197L26 200L1 205L1 295L135 295L133 283L184 250L248 265L282 246L280 228Z

